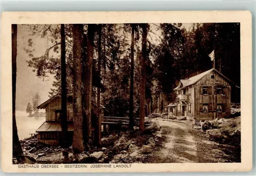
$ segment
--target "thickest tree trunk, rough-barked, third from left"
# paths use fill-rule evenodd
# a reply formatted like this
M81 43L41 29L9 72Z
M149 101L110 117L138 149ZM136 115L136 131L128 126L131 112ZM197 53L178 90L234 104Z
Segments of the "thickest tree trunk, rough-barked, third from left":
M82 131L82 24L73 25L73 111L74 111L74 136L73 148L74 152L84 151L83 131Z

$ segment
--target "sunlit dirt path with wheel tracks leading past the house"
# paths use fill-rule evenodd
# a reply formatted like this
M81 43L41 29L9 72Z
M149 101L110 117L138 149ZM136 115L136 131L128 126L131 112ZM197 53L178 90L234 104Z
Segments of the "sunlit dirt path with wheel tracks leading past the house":
M202 133L180 122L154 120L162 126L165 143L153 163L238 162L232 146L208 141Z

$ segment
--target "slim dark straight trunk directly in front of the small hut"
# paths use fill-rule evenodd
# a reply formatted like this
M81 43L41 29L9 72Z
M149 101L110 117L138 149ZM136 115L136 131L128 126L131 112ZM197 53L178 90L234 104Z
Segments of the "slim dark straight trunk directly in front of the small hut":
M60 25L60 48L61 48L61 129L62 129L62 147L67 147L67 132L68 132L68 120L67 120L67 92L66 92L66 43L65 43L65 26Z

